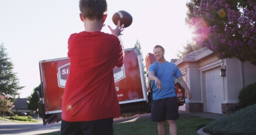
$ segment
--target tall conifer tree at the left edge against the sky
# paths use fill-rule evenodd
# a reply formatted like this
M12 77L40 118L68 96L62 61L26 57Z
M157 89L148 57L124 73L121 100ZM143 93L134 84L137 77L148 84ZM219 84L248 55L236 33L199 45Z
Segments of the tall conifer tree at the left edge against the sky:
M24 86L19 86L19 79L12 71L13 64L9 61L5 50L4 45L0 44L0 95L15 97Z

